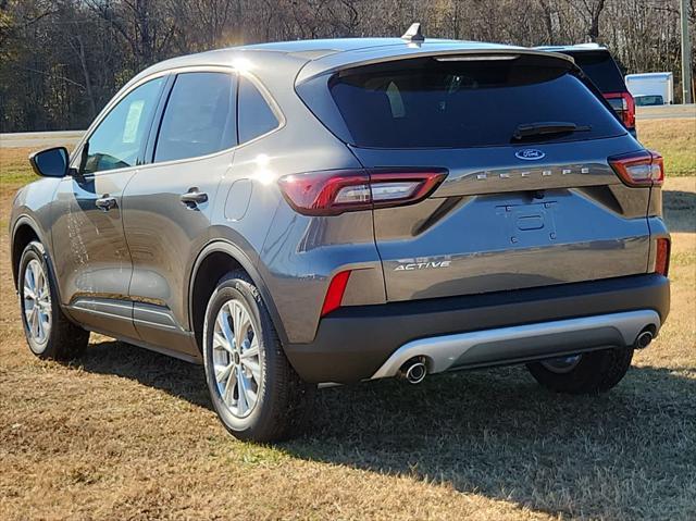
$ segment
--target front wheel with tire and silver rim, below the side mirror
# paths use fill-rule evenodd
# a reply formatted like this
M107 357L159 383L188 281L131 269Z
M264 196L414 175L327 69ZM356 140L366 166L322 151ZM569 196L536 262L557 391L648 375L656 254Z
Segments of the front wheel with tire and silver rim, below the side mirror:
M24 335L32 352L39 358L72 360L87 347L89 332L63 314L55 285L46 261L44 246L29 243L22 253L17 273Z

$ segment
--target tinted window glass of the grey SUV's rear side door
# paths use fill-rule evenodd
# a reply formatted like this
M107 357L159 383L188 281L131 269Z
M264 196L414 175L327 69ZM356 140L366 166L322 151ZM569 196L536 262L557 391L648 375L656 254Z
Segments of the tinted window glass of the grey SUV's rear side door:
M154 161L196 158L234 147L234 101L232 74L179 74L166 102Z

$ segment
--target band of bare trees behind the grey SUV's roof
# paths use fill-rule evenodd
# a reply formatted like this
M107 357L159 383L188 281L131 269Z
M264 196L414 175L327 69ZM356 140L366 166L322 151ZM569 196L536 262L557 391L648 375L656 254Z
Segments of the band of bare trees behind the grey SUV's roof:
M696 0L689 4L694 30ZM426 37L598 41L626 72L681 76L675 0L0 0L0 128L85 127L133 74L172 55L399 36L412 22Z

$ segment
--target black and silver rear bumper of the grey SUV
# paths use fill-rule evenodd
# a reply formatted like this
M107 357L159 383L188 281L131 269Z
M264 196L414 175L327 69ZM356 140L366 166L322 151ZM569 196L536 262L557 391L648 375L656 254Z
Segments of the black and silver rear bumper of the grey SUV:
M655 325L657 333L669 306L668 278L650 274L346 307L321 321L313 343L287 345L285 351L299 375L315 383L393 375L399 353L415 353L414 345L449 346L449 362L434 365L430 360L431 372L495 365L631 345L646 325ZM627 312L643 314L618 317ZM592 320L574 320L583 318ZM633 327L638 327L635 335Z

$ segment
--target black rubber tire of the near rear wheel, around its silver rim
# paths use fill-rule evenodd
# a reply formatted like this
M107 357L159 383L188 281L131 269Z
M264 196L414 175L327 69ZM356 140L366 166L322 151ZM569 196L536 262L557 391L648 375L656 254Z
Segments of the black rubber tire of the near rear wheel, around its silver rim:
M224 384L217 382L213 362L215 320L223 306L232 300L246 305L260 355L257 401L244 418L235 415L223 400L221 386ZM232 357L229 363L233 363ZM203 324L203 364L215 412L235 437L258 443L277 442L299 434L307 423L316 386L304 383L288 362L259 290L244 271L221 278L210 297Z

